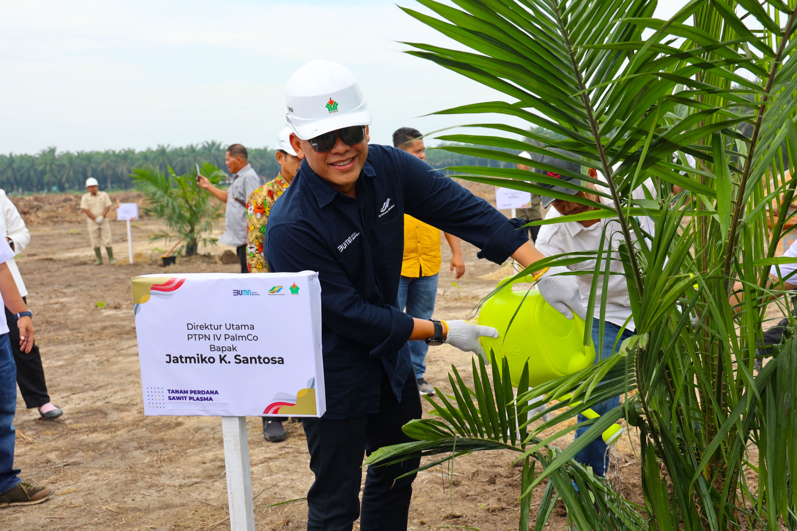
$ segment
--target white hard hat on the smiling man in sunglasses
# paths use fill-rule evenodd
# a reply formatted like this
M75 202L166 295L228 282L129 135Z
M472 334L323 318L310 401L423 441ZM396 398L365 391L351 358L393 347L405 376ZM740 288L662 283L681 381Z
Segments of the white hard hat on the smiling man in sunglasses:
M301 140L371 124L371 112L354 74L332 61L310 61L296 70L285 85L285 104L285 124Z

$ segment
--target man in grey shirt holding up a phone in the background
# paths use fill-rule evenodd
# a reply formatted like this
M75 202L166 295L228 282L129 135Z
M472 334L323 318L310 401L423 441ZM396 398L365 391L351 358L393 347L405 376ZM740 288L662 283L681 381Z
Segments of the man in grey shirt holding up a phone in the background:
M260 187L260 177L249 164L249 152L241 144L227 148L224 163L230 170L233 182L226 190L214 187L204 175L197 175L197 185L209 191L216 199L226 204L224 211L224 234L219 243L235 247L241 273L249 273L246 266L246 199L255 188Z

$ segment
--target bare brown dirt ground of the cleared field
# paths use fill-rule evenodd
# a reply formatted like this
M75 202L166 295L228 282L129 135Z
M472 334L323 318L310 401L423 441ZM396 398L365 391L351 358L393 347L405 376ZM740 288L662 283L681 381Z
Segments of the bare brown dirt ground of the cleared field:
M127 263L122 222L112 225L117 266L92 266L83 223L30 229L32 242L18 263L50 395L65 415L42 421L18 399L15 466L23 478L53 486L55 494L41 505L0 510L0 530L229 529L220 420L143 416L130 278L163 269L148 261ZM134 223L139 258L151 256L156 244L147 237L158 229L152 220ZM501 277L499 266L477 260L472 246L464 248L467 273L454 287L444 266L436 317L467 317ZM200 249L213 256L178 258L169 271L235 272L237 265L215 258L225 249ZM444 245L444 264L446 254ZM104 302L103 309L98 302ZM449 389L450 364L463 376L470 372L470 356L449 345L430 348L427 364L427 380L442 389ZM248 425L257 529L304 529L303 498L312 473L300 424L285 424L289 437L282 443L263 440L260 419L251 418ZM516 529L520 480L518 469L510 467L514 457L485 452L457 459L452 492L440 467L419 474L410 529ZM641 503L638 476L630 443L623 439L610 477L627 498ZM535 513L541 494L538 487ZM289 500L296 501L270 506ZM565 529L565 515L563 506L555 509L547 529Z

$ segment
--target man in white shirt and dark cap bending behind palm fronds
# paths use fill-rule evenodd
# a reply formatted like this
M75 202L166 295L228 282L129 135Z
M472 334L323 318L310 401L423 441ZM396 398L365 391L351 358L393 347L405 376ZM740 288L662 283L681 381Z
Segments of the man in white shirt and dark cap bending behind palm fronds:
M579 155L575 155L567 151L556 151L567 153L567 155L571 155L575 159L579 158ZM579 164L567 163L550 155L534 154L532 156L534 156L534 158L540 162L561 167L563 170L570 173L581 173L581 167ZM579 179L559 175L550 171L535 171L557 177L562 181L569 181L595 189L591 183L585 183ZM594 169L590 169L588 174L593 178L597 177L598 175L597 171ZM544 183L538 184L542 187L566 194L579 195L580 197L591 199L592 201L595 201L595 203L604 203L608 206L612 205L611 201L608 201L597 194L575 191L566 187L553 187ZM642 191L642 187L639 187L637 191L634 191L633 196L635 199L644 199L645 195ZM553 199L546 196L542 197L541 203L544 208L553 207L548 210L548 214L545 216L545 219L558 218L563 215L580 214L589 210L596 210L596 207L587 207L581 203L565 201L563 199ZM643 218L641 223L644 230L647 230L648 232L653 230L653 224L650 222L649 218ZM617 352L620 344L622 344L622 340L634 335L634 320L631 318L631 305L628 295L628 288L626 286L626 277L622 275L622 262L619 261L619 256L617 253L618 246L620 246L623 242L622 233L620 232L620 225L617 218L593 219L583 222L560 222L552 225L544 225L540 228L540 233L537 235L537 240L535 242L537 250L539 250L542 254L552 256L555 254L572 254L583 251L597 251L600 248L601 238L604 238L604 254L603 260L601 261L601 270L604 271L606 269L606 251L611 248L611 272L621 274L611 274L608 278L606 319L603 324L603 345L600 347L598 346L600 325L599 316L602 305L603 275L601 275L598 281L598 293L597 297L595 298L595 318L592 324L592 340L595 344L596 363L599 360L603 360L604 358L611 356L613 352ZM585 273L579 274L578 276L581 303L585 309L587 309L587 305L589 305L590 289L593 277L592 272L595 270L595 260L595 257L585 257L583 262L567 266L567 269L570 269L571 271ZM600 415L603 415L604 413L611 411L611 409L614 407L617 407L619 405L619 400L619 397L615 396L601 403L598 407L593 407L593 410ZM579 415L579 423L582 423L586 420L586 417ZM587 429L588 427L578 428L575 431L575 437L578 438L579 435L582 435L583 432L587 431ZM579 454L576 454L575 459L583 465L591 466L592 471L595 474L603 476L606 474L606 469L609 464L609 456L606 450L606 444L603 443L603 439L599 437L587 445L586 448L581 450Z

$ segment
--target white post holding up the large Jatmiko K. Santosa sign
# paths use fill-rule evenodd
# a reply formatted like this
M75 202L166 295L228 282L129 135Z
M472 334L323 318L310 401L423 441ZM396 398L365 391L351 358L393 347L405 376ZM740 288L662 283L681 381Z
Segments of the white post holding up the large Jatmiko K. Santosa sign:
M246 417L222 417L230 531L254 531L252 476L249 474L249 442Z

